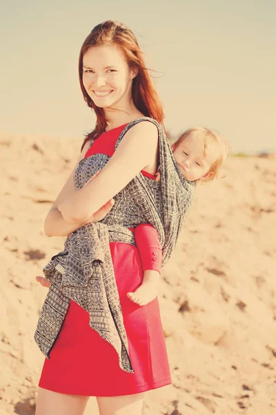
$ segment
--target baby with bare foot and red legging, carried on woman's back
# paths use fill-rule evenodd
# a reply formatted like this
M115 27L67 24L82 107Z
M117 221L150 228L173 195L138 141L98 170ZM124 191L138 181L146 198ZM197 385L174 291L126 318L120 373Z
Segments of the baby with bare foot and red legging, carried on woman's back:
M197 185L222 177L220 168L228 152L226 140L203 127L188 129L172 145L172 154L182 176L186 181L196 181ZM155 180L160 181L160 172L155 174ZM137 226L134 233L144 275L141 286L127 295L132 302L143 306L157 297L161 246L157 230L148 223Z

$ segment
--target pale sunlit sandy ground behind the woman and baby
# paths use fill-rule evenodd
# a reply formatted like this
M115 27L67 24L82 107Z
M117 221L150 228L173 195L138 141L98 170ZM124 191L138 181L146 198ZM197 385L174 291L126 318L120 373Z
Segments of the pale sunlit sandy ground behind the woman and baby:
M43 234L43 219L80 145L0 135L0 415L34 414L43 355L33 335L46 295L34 277L63 246ZM199 188L164 269L173 385L148 393L145 415L276 414L276 161L232 158L226 170Z

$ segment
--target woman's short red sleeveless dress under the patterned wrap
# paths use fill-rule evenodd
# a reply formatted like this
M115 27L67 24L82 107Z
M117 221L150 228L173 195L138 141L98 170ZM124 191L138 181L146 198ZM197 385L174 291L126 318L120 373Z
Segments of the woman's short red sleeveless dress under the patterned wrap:
M102 134L85 157L97 153L112 156L124 127ZM144 174L149 176L146 172ZM115 349L91 329L88 313L71 301L50 359L45 359L39 387L63 394L122 396L171 383L158 299L139 306L126 296L139 287L144 269L158 270L160 265L161 250L156 231L150 225L144 225L144 230L147 234L143 233L141 225L135 234L139 251L128 243L110 243L129 356L135 373L120 369ZM144 258L143 264L139 253ZM98 356L104 356L104 359Z

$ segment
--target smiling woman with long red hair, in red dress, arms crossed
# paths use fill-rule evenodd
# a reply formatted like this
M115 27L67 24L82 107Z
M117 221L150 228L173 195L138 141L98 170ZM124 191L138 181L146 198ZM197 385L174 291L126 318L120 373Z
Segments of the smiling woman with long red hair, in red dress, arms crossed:
M95 26L81 48L79 77L97 124L84 140L75 169L46 217L48 236L66 236L101 219L104 206L108 210L112 198L139 172L154 179L159 164L158 131L152 122L133 125L117 142L133 120L146 116L162 123L164 118L131 30L115 21ZM76 192L79 162L97 154L110 160L99 176ZM140 307L126 296L141 284L137 249L111 242L110 252L133 371L121 370L115 350L88 325L87 311L71 301L50 359L43 366L37 415L81 415L89 396L97 396L100 415L139 415L145 391L171 382L158 300Z

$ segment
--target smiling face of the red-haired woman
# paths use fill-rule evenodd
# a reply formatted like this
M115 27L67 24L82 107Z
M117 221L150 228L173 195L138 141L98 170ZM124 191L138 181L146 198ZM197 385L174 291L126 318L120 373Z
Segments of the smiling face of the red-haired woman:
M83 85L97 107L125 108L135 76L136 71L114 45L92 46L83 55Z

